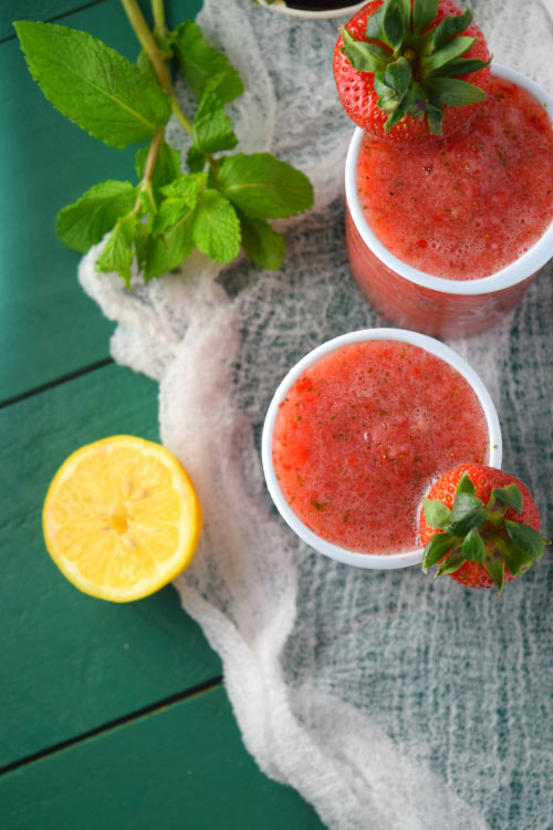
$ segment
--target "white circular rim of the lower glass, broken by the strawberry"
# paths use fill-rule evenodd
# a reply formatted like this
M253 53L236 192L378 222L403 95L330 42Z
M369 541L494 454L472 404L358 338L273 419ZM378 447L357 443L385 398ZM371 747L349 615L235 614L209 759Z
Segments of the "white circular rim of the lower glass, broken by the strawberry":
M490 467L501 468L502 457L502 443L501 443L501 429L499 425L498 413L493 401L486 386L483 385L480 377L477 375L474 370L449 346L440 343L434 338L429 338L426 334L419 334L418 332L407 331L403 329L365 329L362 331L349 332L348 334L342 334L338 338L328 340L326 343L314 349L312 352L302 357L299 363L293 366L286 374L276 392L274 393L273 400L269 406L265 422L263 426L263 436L261 442L261 459L263 464L263 473L265 476L267 486L271 497L286 523L298 536L307 542L312 548L321 553L324 553L331 559L336 559L338 562L344 564L353 564L357 568L373 568L373 569L390 569L390 568L406 568L407 566L418 564L422 560L422 548L407 551L404 553L358 553L355 551L341 548L338 544L328 542L322 537L314 533L307 528L303 521L293 512L290 505L285 500L280 485L276 480L276 476L273 467L273 433L274 424L276 421L276 414L279 412L279 405L285 398L290 387L298 381L298 378L305 372L310 366L316 363L321 357L328 354L330 352L340 349L341 346L348 345L351 343L359 343L367 340L390 340L403 343L410 343L411 345L419 346L425 351L434 354L436 357L448 363L465 380L470 384L474 394L477 395L480 406L482 407L486 423L488 424L488 436L489 436L489 459L488 465Z

